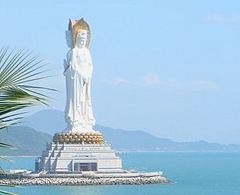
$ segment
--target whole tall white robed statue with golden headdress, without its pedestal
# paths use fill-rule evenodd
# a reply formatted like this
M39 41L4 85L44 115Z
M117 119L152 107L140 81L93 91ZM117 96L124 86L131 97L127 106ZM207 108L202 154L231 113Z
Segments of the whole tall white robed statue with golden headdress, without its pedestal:
M91 104L93 64L88 50L90 27L86 21L69 20L66 39L70 50L64 60L67 99L65 119L69 132L93 132L95 118Z

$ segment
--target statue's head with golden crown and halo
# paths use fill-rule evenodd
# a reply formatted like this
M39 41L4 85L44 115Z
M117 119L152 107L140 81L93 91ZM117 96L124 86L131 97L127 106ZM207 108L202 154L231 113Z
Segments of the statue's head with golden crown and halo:
M90 42L90 27L88 23L81 18L80 20L69 20L68 32L71 33L72 48L88 47Z

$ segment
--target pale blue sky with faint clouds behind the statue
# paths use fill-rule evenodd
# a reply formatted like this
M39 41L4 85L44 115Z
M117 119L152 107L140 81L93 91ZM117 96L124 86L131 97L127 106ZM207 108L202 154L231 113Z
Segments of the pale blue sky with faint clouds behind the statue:
M0 45L49 62L64 110L68 19L91 25L97 123L179 141L240 144L240 2L0 1ZM41 107L39 109L44 109Z

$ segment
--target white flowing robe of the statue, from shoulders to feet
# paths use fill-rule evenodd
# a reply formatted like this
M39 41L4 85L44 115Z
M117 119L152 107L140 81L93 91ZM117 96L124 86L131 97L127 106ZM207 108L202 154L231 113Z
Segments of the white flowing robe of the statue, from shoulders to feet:
M91 132L95 119L91 104L92 60L88 48L73 48L65 61L67 131Z

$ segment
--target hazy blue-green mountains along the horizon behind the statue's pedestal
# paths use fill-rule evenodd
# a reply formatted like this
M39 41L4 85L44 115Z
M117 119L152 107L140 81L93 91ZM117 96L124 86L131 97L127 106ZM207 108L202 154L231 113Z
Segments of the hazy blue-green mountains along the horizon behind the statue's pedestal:
M15 146L0 150L0 155L40 155L52 135L66 128L64 114L57 110L43 110L25 119L24 126L10 127L0 133L0 141ZM28 125L28 126L26 126ZM112 129L95 126L113 149L121 151L240 151L240 145L222 145L206 141L175 142L144 131Z

